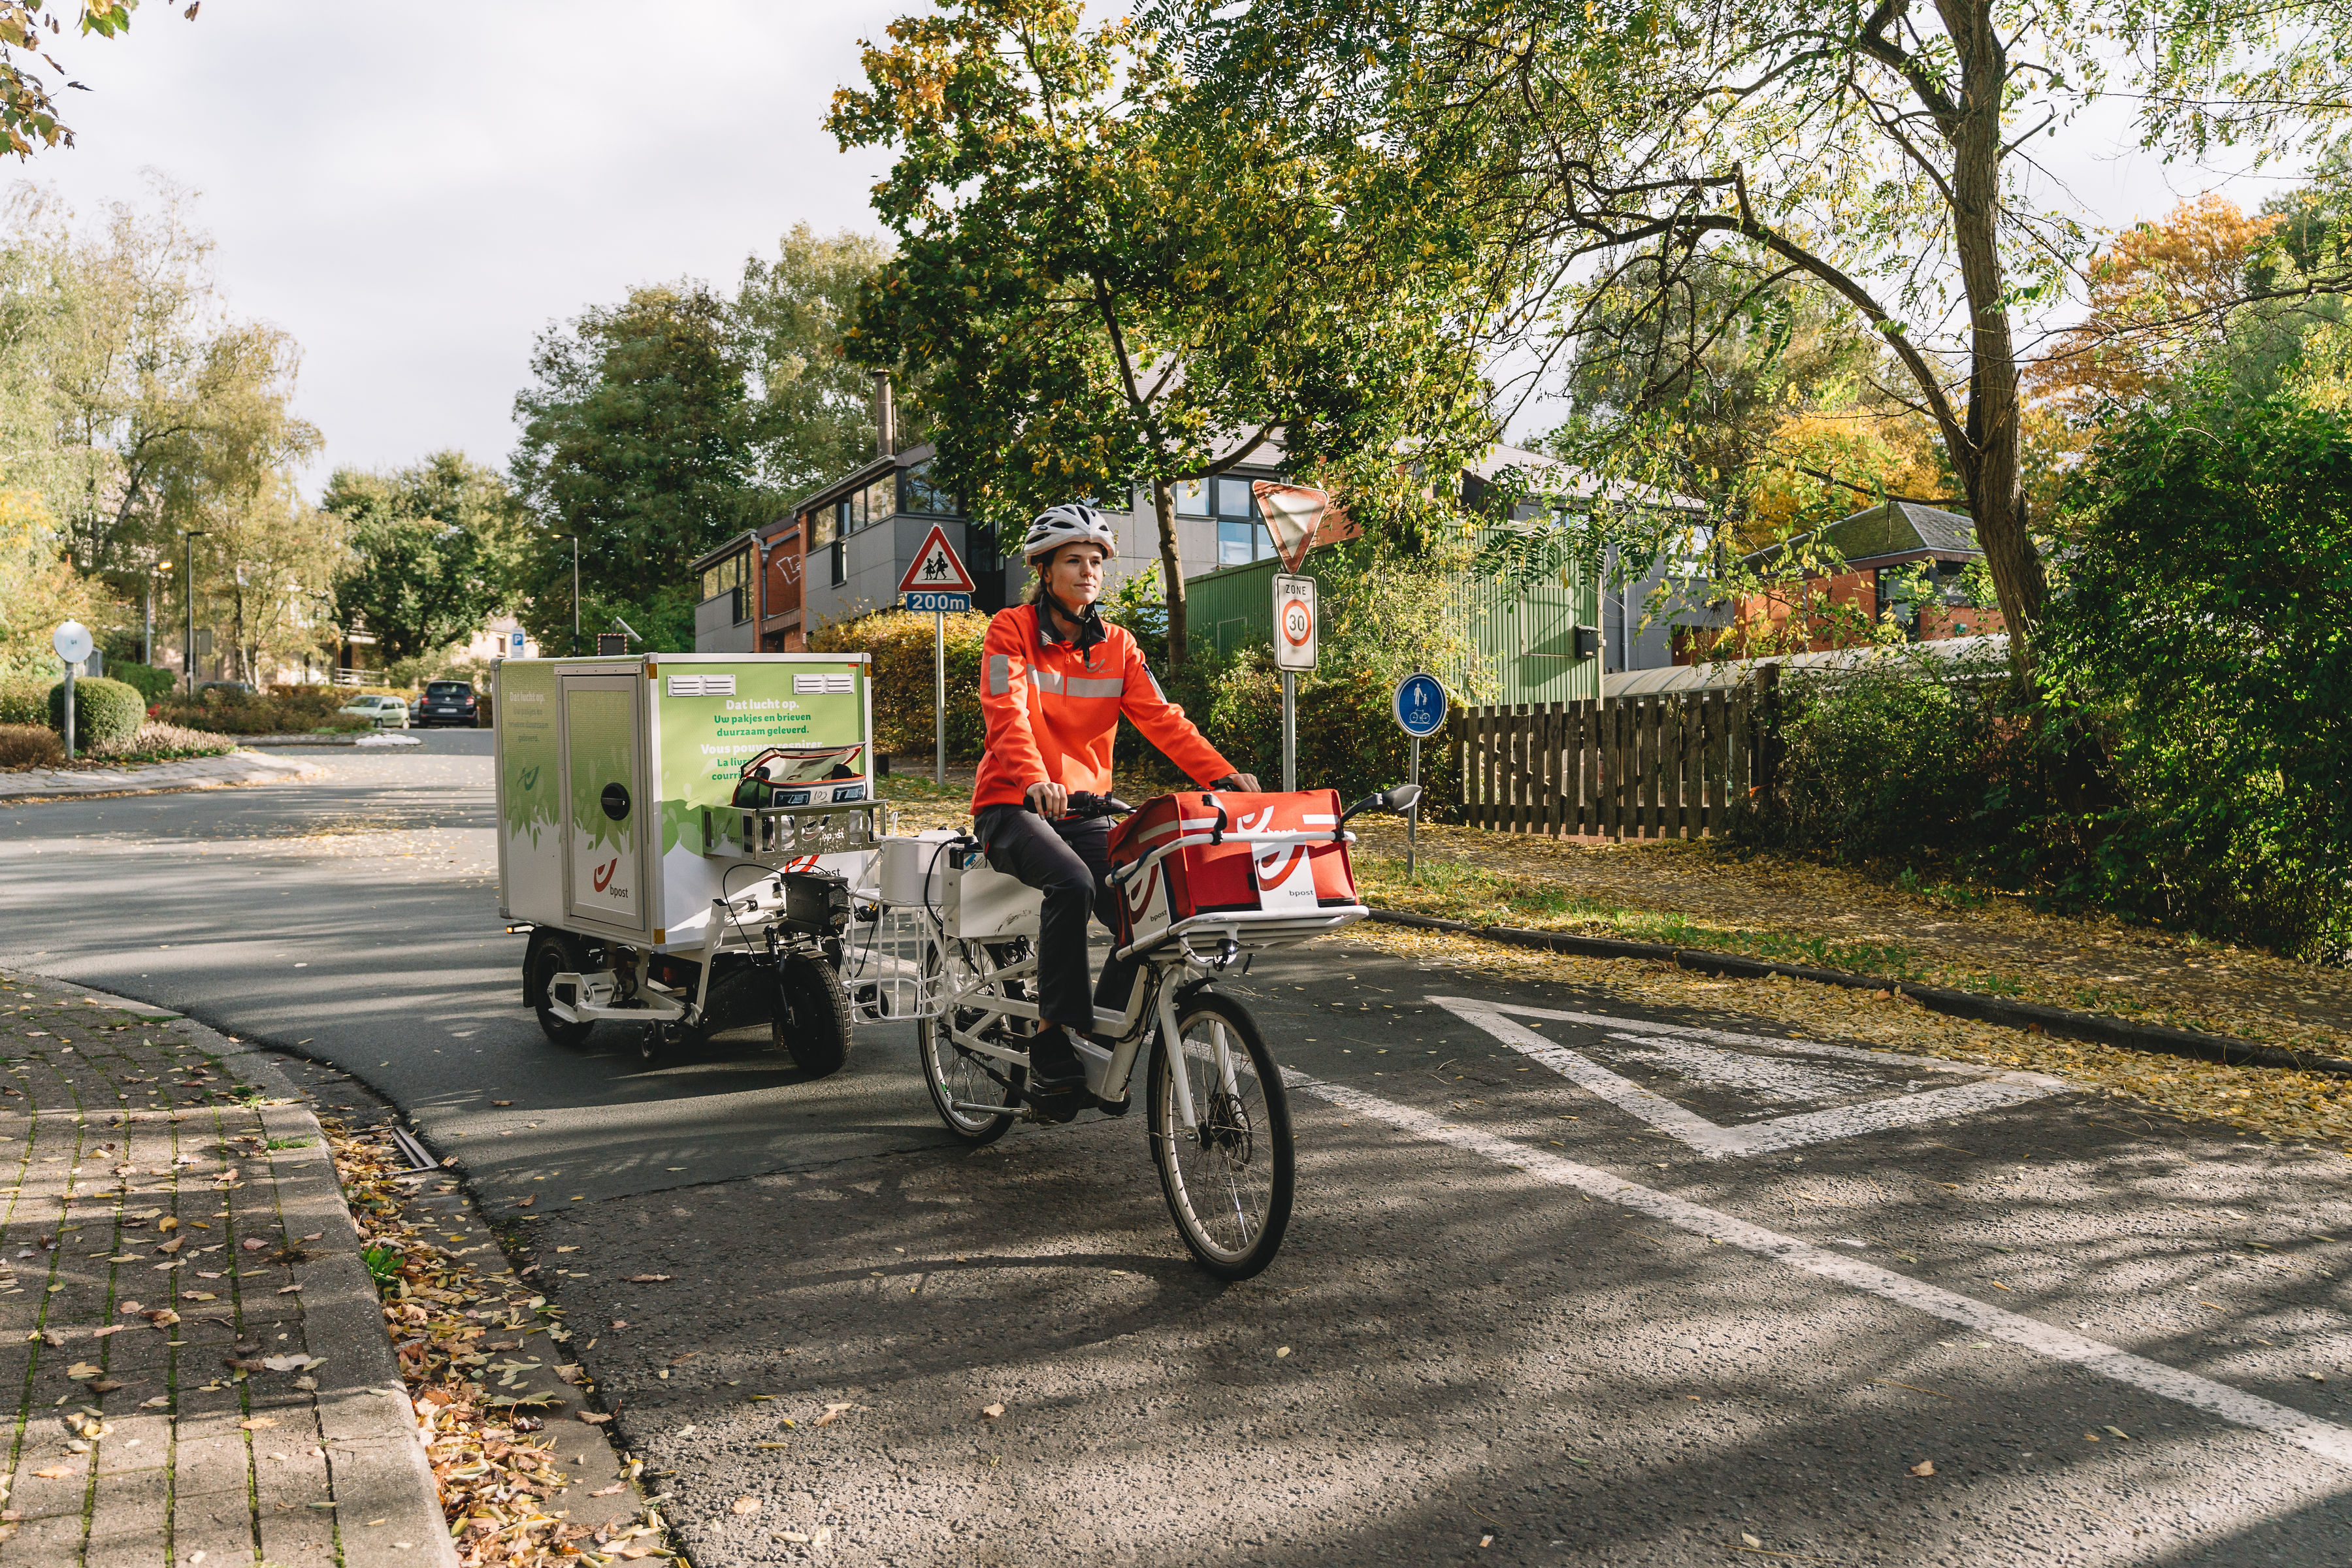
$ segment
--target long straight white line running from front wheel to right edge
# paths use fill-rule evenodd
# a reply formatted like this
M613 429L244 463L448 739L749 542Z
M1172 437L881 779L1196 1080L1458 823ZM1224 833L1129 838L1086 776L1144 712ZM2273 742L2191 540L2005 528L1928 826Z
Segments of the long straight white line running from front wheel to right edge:
M2114 1345L2100 1345L2098 1340L2089 1340L2079 1333L2051 1328L2039 1319L2006 1312L2004 1307L1994 1307L1940 1286L1922 1284L1907 1274L1896 1274L1893 1269L1882 1269L1863 1262L1860 1258L1832 1253L1813 1246L1811 1241L1783 1237L1780 1232L1764 1229L1762 1225L1750 1225L1748 1220L1738 1220L1700 1204L1689 1204L1653 1187L1621 1180L1606 1171L1559 1159L1557 1154L1545 1154L1543 1150L1531 1150L1512 1143L1510 1138L1496 1138L1494 1133L1454 1126L1430 1112L1397 1105L1395 1100L1383 1100L1359 1088L1324 1084L1296 1070L1284 1070L1282 1077L1291 1088L1310 1093L1317 1100L1329 1100L1331 1105L1359 1117L1374 1117L1418 1138L1484 1154L1496 1164L1515 1166L1555 1187L1573 1187L1602 1201L1618 1204L1621 1208L1644 1213L1653 1220L1665 1220L1668 1225L1686 1229L1693 1237L1708 1237L1710 1241L1722 1241L1759 1258L1785 1262L1802 1274L1853 1286L1856 1291L1886 1298L1903 1307L1915 1307L1929 1316L1940 1316L1947 1324L1959 1324L1962 1328L1980 1333L1990 1340L2002 1340L2020 1349L2051 1356L2053 1361L2070 1361L2084 1371L2098 1373L2100 1378L2140 1389L2143 1394L2157 1394L2159 1399L2185 1403L2234 1427L2263 1432L2281 1443L2293 1443L2296 1448L2317 1453L2326 1460L2336 1460L2345 1469L2352 1469L2352 1432L2319 1420L2317 1415L2305 1415L2303 1410L2263 1399L2260 1394L2246 1394L2244 1389L2213 1382L2211 1378L2199 1378L2197 1373L2183 1373L2180 1368L2150 1361L2147 1356L2136 1356L2126 1349L2117 1349Z

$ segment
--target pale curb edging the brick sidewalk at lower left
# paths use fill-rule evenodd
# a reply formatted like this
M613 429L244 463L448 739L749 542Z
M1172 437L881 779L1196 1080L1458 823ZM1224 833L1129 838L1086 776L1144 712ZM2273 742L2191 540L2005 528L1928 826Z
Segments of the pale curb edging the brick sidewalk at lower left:
M52 976L40 976L40 985L45 992L167 1023L181 1039L214 1056L221 1072L235 1081L285 1100L259 1112L270 1143L301 1145L268 1152L282 1234L320 1232L315 1244L320 1251L294 1262L292 1274L301 1295L303 1340L310 1354L327 1349L325 1363L332 1368L308 1399L325 1439L320 1446L336 1502L334 1516L341 1521L341 1563L343 1568L459 1568L416 1410L400 1378L390 1335L383 1331L376 1284L360 1260L360 1232L343 1206L325 1128L294 1079L278 1058L169 1009ZM268 1488L261 1495L268 1497ZM386 1523L369 1528L369 1519Z

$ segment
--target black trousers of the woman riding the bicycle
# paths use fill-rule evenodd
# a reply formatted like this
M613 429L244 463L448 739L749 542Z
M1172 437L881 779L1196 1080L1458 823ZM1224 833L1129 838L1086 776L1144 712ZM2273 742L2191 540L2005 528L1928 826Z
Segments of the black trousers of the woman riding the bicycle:
M1049 823L1025 806L985 806L971 820L988 865L1044 893L1037 917L1037 1011L1047 1023L1094 1032L1094 1009L1127 1011L1134 959L1105 959L1087 987L1087 912L1112 933L1120 893L1110 886L1110 823Z

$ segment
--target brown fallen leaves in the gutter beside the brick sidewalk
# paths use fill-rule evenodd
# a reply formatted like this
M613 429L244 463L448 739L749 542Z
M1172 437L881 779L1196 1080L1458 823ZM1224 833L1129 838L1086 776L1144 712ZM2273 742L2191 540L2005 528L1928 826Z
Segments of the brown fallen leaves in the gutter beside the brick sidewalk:
M614 1559L673 1554L652 1523L619 1523L590 1530L546 1502L567 1481L557 1472L553 1439L539 1415L520 1415L517 1403L562 1406L553 1394L492 1394L480 1378L499 1373L513 1382L515 1368L536 1361L499 1361L485 1354L492 1331L508 1335L501 1349L517 1349L532 1335L567 1338L562 1309L517 1281L485 1279L461 1255L426 1239L442 1222L414 1225L402 1206L412 1192L393 1180L407 1175L407 1159L388 1133L350 1131L322 1119L334 1150L334 1171L360 1225L362 1251L383 1298L383 1321L393 1333L400 1375L426 1439L426 1460L440 1483L452 1544L463 1568L595 1566ZM553 1356L550 1356L553 1359ZM285 1361L287 1368L270 1363ZM270 1371L292 1368L296 1356L263 1356ZM306 1359L303 1359L306 1361ZM313 1363L315 1366L315 1363ZM569 1382L569 1380L567 1380ZM595 1410L574 1410L590 1427L609 1422ZM597 1497L619 1493L612 1486ZM623 1544L635 1542L635 1544Z

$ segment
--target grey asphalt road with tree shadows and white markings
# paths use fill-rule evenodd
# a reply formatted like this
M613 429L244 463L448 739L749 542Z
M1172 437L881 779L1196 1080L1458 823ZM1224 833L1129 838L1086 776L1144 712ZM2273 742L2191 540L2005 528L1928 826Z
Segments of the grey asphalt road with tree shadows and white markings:
M703 1568L2352 1561L2340 1157L1336 938L1230 987L1301 1201L1221 1288L1141 1117L950 1147L906 1027L823 1081L548 1046L485 741L0 811L0 961L336 1063L534 1197Z

